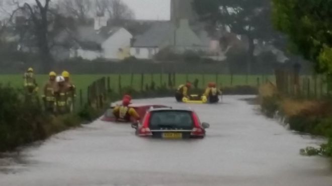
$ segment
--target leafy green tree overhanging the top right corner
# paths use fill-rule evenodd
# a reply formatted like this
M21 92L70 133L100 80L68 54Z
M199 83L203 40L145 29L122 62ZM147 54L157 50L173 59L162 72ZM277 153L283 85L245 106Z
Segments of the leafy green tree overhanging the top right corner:
M289 50L332 73L332 1L273 0L273 23L286 33Z

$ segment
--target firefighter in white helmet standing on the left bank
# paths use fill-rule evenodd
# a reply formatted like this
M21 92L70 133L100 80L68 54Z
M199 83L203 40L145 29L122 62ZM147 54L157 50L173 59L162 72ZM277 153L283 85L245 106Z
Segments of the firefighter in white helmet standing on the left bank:
M69 112L69 107L67 104L68 89L65 86L64 78L62 76L57 76L56 84L57 84L57 86L56 86L56 89L54 90L56 113L66 114Z

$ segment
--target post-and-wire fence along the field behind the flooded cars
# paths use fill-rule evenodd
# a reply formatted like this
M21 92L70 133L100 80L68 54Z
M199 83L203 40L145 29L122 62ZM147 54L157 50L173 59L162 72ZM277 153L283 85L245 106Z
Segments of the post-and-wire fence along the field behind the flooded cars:
M87 88L79 90L79 102L76 108L86 104L102 108L110 92L116 94L149 92L156 90L174 90L179 85L191 82L196 89L205 89L209 82L215 82L219 88L235 86L259 87L262 83L274 81L273 75L243 75L243 74L176 74L176 73L140 73L140 74L110 74L97 79Z

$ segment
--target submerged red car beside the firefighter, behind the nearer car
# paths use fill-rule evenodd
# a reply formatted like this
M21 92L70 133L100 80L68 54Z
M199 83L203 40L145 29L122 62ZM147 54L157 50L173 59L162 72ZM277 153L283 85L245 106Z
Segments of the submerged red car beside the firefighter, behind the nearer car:
M136 112L140 116L141 120L143 119L145 113L151 108L169 108L168 106L165 106L165 105L142 104L142 103L130 104L129 107L134 108L136 110ZM115 116L113 115L113 108L114 107L110 107L109 109L107 109L101 120L110 121L110 122L117 121ZM131 118L131 121L134 121L134 119ZM124 121L124 122L126 122L126 121ZM130 121L127 121L127 122L130 122Z

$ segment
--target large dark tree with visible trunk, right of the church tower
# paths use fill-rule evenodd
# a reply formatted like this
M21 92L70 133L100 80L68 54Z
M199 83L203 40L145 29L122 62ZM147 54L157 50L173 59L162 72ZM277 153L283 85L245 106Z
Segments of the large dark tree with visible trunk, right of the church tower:
M211 34L229 28L230 32L247 38L247 73L250 73L255 60L254 41L277 40L270 20L270 3L270 0L194 0L193 8L200 20L208 24Z

